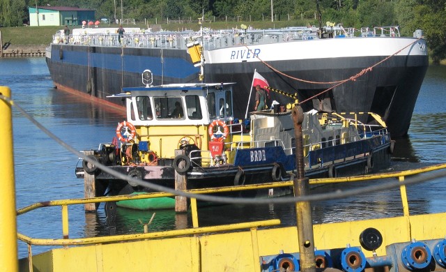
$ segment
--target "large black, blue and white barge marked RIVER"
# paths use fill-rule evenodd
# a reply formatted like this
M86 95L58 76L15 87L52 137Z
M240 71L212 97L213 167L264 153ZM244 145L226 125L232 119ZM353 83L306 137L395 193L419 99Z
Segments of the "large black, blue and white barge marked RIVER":
M94 33L93 33L94 32ZM357 33L360 34L357 34ZM246 117L254 100L254 71L270 86L297 93L305 111L375 112L393 137L406 135L428 67L422 31L399 36L398 27L344 29L325 27L149 32L126 29L74 29L54 36L47 47L49 73L58 89L98 98L139 86L149 69L154 84L238 82L234 115ZM325 38L324 38L325 37ZM199 44L200 61L192 62L187 45ZM346 80L343 84L342 81ZM331 89L330 89L331 88ZM249 96L252 96L250 98ZM289 103L272 93L268 103ZM367 121L367 120L364 120Z

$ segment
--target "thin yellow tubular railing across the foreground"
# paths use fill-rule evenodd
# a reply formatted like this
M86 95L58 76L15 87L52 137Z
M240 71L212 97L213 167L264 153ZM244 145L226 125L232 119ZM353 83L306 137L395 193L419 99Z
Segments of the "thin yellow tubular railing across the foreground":
M399 181L404 181L406 176L421 174L424 172L431 172L438 169L445 169L445 164L440 165L432 165L428 167L422 167L418 169L410 169L401 172L391 172L384 174L371 174L365 176L350 176L350 177L341 177L341 178L333 178L333 179L311 179L309 181L311 185L320 185L324 183L345 183L345 182L359 182L359 181L369 181L376 179L399 179ZM282 181L282 182L273 182L273 183L262 183L256 185L246 185L246 186L230 186L230 187L222 187L222 188L207 188L207 189L195 189L195 190L187 190L187 192L193 194L215 194L221 192L237 192L241 190L259 190L259 189L270 189L270 188L279 188L279 187L290 187L293 186L293 181ZM408 199L406 196L406 186L401 185L401 200L403 206L404 216L409 216L408 211ZM224 225L224 226L215 226L215 227L199 227L198 222L198 209L197 209L197 199L191 198L191 212L192 212L192 229L182 229L182 230L174 230L174 231L165 231L165 232L155 232L149 234L127 234L120 236L105 236L105 237L96 237L96 238L83 238L83 239L69 239L68 238L68 205L75 204L86 204L86 203L99 203L99 202L118 202L123 200L132 200L132 199L148 199L148 198L156 198L156 197L174 197L174 194L167 192L153 192L148 194L141 195L120 195L113 197L95 197L95 198L86 198L86 199L63 199L63 200L55 200L49 202L39 202L36 204L32 204L30 206L26 206L22 209L17 210L17 216L20 216L24 213L28 213L29 211L33 211L35 209L40 209L47 206L61 206L62 208L62 229L63 229L63 237L64 239L33 239L28 236L24 236L23 234L17 234L18 238L29 245L86 245L91 243L109 243L114 241L133 241L138 239L149 239L149 238L160 238L160 237L168 237L168 236L176 236L176 235L185 235L185 234L199 234L205 232L220 232L227 231L231 229L245 229L251 227L261 227L261 226L271 226L278 225L280 223L279 220L266 220L266 221L256 221L249 223L240 223L234 225Z

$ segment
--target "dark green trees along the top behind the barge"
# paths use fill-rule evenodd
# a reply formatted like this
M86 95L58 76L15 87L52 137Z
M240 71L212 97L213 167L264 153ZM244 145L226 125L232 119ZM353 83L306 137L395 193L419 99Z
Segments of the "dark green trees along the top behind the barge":
M122 5L122 6L121 6ZM272 5L272 8L271 8ZM403 36L422 29L434 62L446 58L446 0L0 0L0 25L29 22L29 6L72 6L96 10L99 18L132 18L139 22L170 20L292 20L344 27L399 25ZM272 16L272 18L271 18Z

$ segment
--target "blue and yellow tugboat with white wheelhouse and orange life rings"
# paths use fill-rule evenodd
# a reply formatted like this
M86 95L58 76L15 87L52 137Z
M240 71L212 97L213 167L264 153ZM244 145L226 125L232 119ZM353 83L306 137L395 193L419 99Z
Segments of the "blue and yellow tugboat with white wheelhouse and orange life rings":
M109 195L128 195L153 190L100 171L98 163L168 188L175 188L176 173L185 176L187 189L287 181L297 174L292 104L239 121L233 117L235 83L152 86L149 70L142 79L145 86L114 96L125 97L127 120L118 124L112 143L89 152L95 163L84 160L79 178L94 175ZM306 176L367 174L390 165L385 122L368 113L369 122L361 123L362 114L305 112Z

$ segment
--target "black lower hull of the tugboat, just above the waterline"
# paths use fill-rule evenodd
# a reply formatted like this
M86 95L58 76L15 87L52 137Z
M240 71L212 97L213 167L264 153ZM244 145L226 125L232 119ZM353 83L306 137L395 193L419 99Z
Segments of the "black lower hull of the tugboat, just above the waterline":
M355 176L361 174L371 174L380 172L390 166L390 143L383 144L382 146L374 149L373 159L370 160L369 156L358 157L353 160L347 160L344 163L336 163L334 167L325 165L316 169L309 169L305 171L305 176L310 179L316 178L334 178L341 176ZM128 166L110 166L116 172L127 175ZM161 168L160 168L161 169ZM154 167L134 166L132 171L136 170L141 172L141 176L146 176L150 172L162 172L162 176L158 179L145 179L147 182L156 184L158 186L164 186L168 188L175 188L175 170L174 167L165 166L160 169ZM238 185L255 185L260 183L268 183L275 181L289 181L293 180L294 174L286 174L284 169L279 179L275 179L277 176L274 165L255 165L251 167L243 167L244 179L240 179L238 176L240 172L237 166L225 166L222 167L194 167L192 171L187 172L187 189L207 189L226 186L238 186ZM200 174L199 174L200 173ZM98 172L95 174L95 180L102 186L108 184L107 192L110 195L128 195L132 192L157 192L151 188L142 186L130 186L127 181L116 179L114 176L105 172ZM144 180L144 178L143 178ZM268 190L260 190L260 192L268 192ZM276 192L282 192L282 190L276 190ZM252 193L246 193L244 196L256 197L259 192L253 191ZM261 195L263 196L263 195Z

